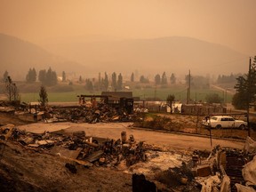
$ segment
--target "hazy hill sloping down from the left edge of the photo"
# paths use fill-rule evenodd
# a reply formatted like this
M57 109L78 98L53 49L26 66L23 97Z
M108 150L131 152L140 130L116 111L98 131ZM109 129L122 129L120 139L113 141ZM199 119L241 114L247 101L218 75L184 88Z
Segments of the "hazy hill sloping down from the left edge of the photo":
M48 69L51 67L61 74L63 70L77 72L81 66L45 51L36 44L20 40L14 36L0 34L0 78L7 70L12 79L24 80L29 68Z

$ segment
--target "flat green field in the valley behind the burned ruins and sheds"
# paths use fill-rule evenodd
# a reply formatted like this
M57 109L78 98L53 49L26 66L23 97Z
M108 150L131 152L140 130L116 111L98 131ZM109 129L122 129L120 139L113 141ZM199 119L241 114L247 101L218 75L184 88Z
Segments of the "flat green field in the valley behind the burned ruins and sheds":
M50 102L69 102L78 101L77 95L80 94L100 94L100 92L87 92L80 87L76 87L73 92L47 92ZM187 100L188 89L186 87L170 87L170 88L140 88L127 90L132 92L133 96L140 97L140 100L147 100L148 98L155 100L166 100L168 94L174 94L175 100ZM204 101L205 96L211 93L218 93L224 102L231 102L232 95L227 92L213 90L213 89L191 89L190 99L194 101ZM20 93L21 101L31 102L39 100L38 92Z

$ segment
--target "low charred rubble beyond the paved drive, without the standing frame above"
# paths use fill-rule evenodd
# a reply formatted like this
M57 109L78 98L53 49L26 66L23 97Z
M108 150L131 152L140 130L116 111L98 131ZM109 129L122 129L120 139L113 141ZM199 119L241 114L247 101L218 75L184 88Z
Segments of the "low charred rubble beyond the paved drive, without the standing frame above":
M128 113L125 108L112 107L106 103L97 105L80 105L70 107L31 105L25 102L12 103L0 101L0 112L10 114L31 115L34 121L45 120L51 122L69 121L74 123L108 123L133 121L138 113Z

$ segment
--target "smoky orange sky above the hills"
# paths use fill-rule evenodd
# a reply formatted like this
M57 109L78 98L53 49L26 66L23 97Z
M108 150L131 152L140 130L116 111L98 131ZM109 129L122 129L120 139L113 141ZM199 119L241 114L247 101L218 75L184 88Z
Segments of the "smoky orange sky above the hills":
M255 0L0 0L0 33L57 39L189 36L256 54Z

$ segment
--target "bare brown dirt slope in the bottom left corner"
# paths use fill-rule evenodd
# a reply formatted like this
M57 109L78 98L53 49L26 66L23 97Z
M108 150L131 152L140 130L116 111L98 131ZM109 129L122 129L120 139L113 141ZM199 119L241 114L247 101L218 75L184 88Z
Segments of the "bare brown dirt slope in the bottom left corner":
M132 191L132 176L105 167L86 168L60 156L0 142L1 191Z

